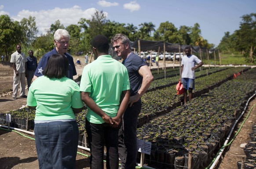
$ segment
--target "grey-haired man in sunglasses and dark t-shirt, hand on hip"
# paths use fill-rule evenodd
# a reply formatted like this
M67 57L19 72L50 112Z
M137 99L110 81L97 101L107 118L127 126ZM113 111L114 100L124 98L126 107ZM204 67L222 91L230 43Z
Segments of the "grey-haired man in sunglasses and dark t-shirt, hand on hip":
M137 158L137 119L141 110L140 97L148 90L154 77L142 58L132 53L130 40L123 34L112 37L111 43L117 56L121 56L130 80L130 98L124 112L123 126L119 130L118 151L120 169L135 169Z

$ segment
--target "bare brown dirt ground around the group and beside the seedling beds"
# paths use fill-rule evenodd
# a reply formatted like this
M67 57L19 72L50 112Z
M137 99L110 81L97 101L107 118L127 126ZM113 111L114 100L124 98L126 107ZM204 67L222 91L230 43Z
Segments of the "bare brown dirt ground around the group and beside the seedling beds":
M78 57L74 58L74 61L77 58ZM81 75L84 67L84 58L79 58L82 62L82 65L76 65L76 68L77 74ZM13 100L11 96L13 83L12 77L13 70L11 66L8 63L4 65L0 63L0 113L16 110L26 105L26 98L18 97L18 100ZM249 103L244 117L246 117L248 111L254 104L256 104L255 98ZM238 123L238 127L241 125L241 122L242 119ZM237 162L241 161L241 158L245 156L243 149L240 148L240 144L248 143L250 141L249 133L252 132L252 125L255 122L256 108L253 108L249 118L246 120L238 136L234 139L230 147L226 148L223 157L221 158L219 164L216 166L216 169L238 168ZM28 134L24 135L33 137ZM233 137L231 137L230 140L232 138ZM82 149L78 149L78 151L89 155L88 152ZM77 169L88 168L89 158L77 154ZM38 169L37 151L34 140L23 137L15 132L0 129L0 169Z

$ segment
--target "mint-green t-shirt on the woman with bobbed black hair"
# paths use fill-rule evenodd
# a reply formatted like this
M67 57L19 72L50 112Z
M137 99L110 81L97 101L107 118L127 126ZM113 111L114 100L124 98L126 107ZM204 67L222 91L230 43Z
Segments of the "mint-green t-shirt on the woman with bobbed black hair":
M75 119L72 108L82 108L79 86L72 79L38 77L29 87L28 106L37 106L35 120Z

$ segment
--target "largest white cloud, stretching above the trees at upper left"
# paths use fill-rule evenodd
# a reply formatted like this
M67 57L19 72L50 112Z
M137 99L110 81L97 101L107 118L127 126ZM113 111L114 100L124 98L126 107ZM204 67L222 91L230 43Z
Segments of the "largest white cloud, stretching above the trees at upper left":
M81 7L75 5L71 8L55 7L54 9L41 11L22 10L18 12L17 16L11 18L15 21L21 21L22 18L29 18L29 16L35 17L39 34L41 34L45 33L46 29L49 29L51 24L54 24L58 19L66 27L70 24L77 24L80 18L91 19L95 11L97 9L93 7L82 10ZM104 14L106 17L108 16L108 13L104 12Z

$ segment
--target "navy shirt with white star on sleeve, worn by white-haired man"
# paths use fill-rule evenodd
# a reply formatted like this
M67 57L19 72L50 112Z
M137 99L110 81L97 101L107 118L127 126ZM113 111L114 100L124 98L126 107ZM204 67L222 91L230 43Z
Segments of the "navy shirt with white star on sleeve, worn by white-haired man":
M37 70L36 70L36 72L34 74L35 76L37 76L37 77L43 76L43 71L44 71L44 68L46 67L47 61L49 60L49 58L53 54L58 54L56 48L54 48L53 50L51 50L50 52L45 54L40 59L40 61L38 63L38 66L37 66ZM77 71L76 71L76 68L75 68L73 57L70 54L68 54L68 53L65 53L65 56L69 60L68 78L69 79L73 79L73 76L77 75Z

